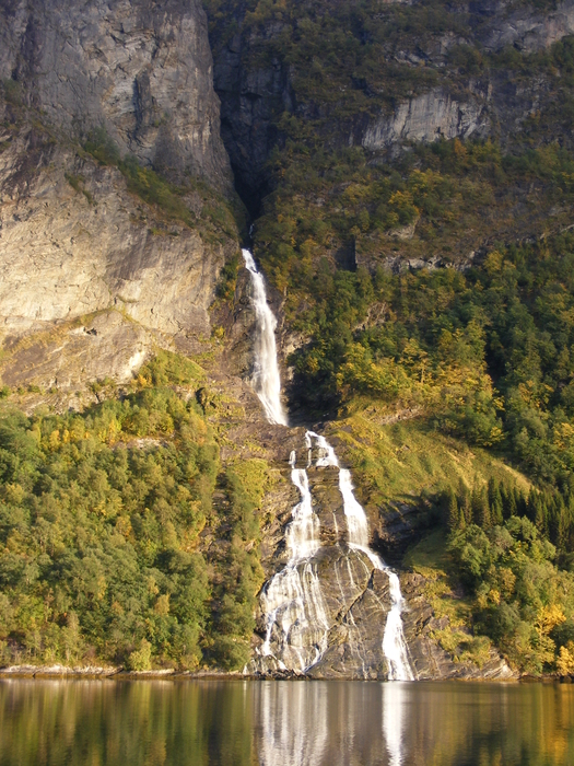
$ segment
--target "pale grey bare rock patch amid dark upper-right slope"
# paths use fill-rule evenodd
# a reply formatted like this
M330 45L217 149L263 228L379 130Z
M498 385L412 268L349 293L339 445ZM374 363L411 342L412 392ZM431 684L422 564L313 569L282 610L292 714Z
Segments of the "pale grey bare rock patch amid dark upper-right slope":
M478 101L457 101L442 88L399 104L394 114L373 121L362 144L371 151L399 142L435 141L438 138L467 138L484 132L484 106Z

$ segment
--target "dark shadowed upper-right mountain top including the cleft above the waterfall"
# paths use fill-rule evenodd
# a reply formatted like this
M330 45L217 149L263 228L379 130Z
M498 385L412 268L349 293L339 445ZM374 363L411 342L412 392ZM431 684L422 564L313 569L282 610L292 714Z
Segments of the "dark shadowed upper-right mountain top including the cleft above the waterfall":
M273 148L311 129L325 148L390 156L417 141L530 135L531 118L553 112L557 72L520 77L525 57L541 61L574 31L571 2L207 7L222 136L237 183L259 200ZM571 140L560 118L544 128L543 141Z

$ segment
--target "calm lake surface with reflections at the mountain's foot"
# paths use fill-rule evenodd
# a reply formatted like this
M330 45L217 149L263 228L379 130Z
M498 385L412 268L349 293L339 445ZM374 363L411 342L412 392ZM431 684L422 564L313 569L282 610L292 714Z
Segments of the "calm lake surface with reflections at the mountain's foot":
M0 681L1 766L574 766L574 686Z

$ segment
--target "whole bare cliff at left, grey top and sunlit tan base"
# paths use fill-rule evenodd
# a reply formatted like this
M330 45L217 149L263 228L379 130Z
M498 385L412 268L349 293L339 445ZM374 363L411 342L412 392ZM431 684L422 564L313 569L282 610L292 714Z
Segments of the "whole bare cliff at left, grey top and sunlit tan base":
M0 76L3 383L121 382L154 346L197 349L237 247L213 225L204 235L186 181L231 183L200 4L3 3ZM96 128L183 184L186 222L82 151Z

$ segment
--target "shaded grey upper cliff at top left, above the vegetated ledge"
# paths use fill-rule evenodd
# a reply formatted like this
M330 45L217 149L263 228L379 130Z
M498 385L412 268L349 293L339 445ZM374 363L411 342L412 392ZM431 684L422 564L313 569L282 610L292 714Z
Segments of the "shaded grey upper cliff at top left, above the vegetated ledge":
M0 78L69 136L103 127L156 169L230 184L199 0L10 0Z

